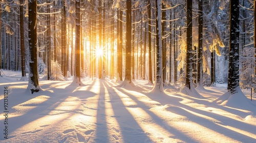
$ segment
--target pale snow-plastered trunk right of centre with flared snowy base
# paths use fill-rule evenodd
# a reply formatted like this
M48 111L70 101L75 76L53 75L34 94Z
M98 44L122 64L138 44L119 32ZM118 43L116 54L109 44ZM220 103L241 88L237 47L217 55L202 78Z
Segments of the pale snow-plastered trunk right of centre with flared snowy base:
M152 91L163 92L163 78L162 78L162 12L161 0L156 0L156 82Z

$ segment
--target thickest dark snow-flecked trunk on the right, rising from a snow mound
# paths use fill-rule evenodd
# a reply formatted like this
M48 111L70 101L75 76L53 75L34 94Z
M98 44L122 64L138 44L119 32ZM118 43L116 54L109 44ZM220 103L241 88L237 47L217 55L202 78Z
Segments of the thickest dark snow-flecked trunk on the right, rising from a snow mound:
M230 1L230 40L227 89L237 93L239 86L239 1Z

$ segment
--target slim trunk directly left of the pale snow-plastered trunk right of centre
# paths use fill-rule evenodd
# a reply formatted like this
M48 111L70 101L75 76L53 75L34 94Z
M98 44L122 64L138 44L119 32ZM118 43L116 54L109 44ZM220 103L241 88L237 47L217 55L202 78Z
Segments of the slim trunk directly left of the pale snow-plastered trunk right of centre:
M150 83L153 83L152 79L152 44L151 44L151 1L148 1L147 16L148 16L148 79Z

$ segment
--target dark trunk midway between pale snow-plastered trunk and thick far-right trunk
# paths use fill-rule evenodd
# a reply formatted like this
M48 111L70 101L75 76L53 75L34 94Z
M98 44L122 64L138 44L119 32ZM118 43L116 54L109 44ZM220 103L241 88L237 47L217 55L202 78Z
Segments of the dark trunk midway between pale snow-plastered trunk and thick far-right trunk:
M187 8L187 50L186 50L186 81L185 86L191 89L192 85L192 63L193 63L193 49L192 49L192 1L186 1Z

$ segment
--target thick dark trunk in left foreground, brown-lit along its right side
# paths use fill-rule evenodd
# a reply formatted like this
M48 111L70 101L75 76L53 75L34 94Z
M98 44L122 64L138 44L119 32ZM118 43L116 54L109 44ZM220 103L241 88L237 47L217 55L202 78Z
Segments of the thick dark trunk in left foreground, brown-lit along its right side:
M37 20L36 20L36 0L29 0L29 84L28 89L31 93L38 92L40 86L38 83L38 72L37 72Z

